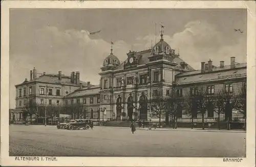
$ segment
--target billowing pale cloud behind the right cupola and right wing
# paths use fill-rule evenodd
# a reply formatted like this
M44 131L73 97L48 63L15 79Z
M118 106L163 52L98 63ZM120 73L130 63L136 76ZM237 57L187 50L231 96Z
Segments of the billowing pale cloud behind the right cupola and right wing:
M240 34L239 34L240 35ZM200 69L202 61L209 59L218 66L220 61L230 63L230 57L237 62L246 61L246 35L236 36L235 41L228 41L225 34L204 20L190 21L184 30L173 36L164 34L164 41L180 52L180 57L195 69ZM159 41L159 36L157 42ZM147 48L155 43L155 35L150 34L136 39L137 49Z

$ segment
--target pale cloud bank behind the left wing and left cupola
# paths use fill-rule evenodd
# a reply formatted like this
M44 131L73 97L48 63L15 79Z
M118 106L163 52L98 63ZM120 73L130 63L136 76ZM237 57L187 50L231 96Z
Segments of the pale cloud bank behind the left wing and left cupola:
M72 71L80 71L81 80L99 84L97 74L111 48L111 44L103 39L91 39L87 30L60 31L54 26L31 32L31 36L19 43L12 42L10 74L19 75L10 75L10 99L15 98L14 85L29 78L29 70L33 67L38 73L58 73L61 70L70 75ZM114 41L114 54L120 61L127 57L128 46L122 40Z

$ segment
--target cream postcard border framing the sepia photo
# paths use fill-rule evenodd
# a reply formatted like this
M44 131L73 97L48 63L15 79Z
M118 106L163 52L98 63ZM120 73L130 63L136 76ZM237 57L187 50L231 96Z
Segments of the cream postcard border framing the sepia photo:
M1 15L1 165L26 166L254 166L255 165L255 1L2 1ZM57 161L15 161L9 156L9 9L10 8L244 8L247 9L246 158L57 157ZM188 139L189 140L189 139ZM235 140L230 138L230 141Z

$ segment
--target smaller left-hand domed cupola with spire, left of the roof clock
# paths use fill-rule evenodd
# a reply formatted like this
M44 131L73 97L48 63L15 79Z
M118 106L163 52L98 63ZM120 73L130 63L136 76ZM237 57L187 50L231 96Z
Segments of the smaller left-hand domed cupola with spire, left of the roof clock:
M119 59L113 54L113 42L111 41L111 53L108 57L105 58L103 62L102 71L114 70L117 66L120 65Z

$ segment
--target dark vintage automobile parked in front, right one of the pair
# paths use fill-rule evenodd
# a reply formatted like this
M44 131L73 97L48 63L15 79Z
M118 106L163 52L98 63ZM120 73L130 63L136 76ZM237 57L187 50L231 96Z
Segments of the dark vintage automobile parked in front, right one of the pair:
M74 130L74 129L91 129L93 126L93 122L90 119L78 119L75 120L75 122L69 122L67 125L68 130Z

